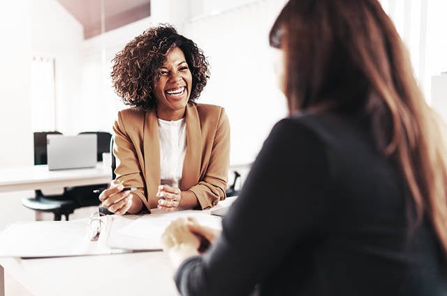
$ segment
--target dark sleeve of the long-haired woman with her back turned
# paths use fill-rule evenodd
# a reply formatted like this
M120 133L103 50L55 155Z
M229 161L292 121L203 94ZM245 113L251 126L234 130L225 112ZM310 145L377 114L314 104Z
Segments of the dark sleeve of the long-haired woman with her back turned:
M217 241L177 270L180 293L249 295L323 228L328 182L325 146L318 136L305 125L281 120L223 219Z

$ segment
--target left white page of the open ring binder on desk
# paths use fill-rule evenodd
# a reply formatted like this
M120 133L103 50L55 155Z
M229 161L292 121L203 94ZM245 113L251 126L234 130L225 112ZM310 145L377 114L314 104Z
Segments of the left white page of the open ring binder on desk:
M35 221L10 225L0 234L2 257L59 257L122 253L90 242L88 219L78 221Z

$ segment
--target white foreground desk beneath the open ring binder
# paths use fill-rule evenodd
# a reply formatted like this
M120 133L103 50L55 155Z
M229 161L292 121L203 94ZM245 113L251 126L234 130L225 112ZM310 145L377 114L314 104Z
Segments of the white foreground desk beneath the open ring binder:
M227 198L211 210L227 207L235 199ZM0 296L4 296L2 267L35 296L179 295L170 260L161 251L40 259L0 257Z

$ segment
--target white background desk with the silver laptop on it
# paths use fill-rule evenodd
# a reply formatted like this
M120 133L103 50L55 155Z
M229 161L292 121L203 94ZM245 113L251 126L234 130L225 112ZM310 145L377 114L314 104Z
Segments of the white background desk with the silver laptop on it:
M107 183L112 171L98 162L89 169L49 171L48 166L23 166L0 169L0 192L47 189Z

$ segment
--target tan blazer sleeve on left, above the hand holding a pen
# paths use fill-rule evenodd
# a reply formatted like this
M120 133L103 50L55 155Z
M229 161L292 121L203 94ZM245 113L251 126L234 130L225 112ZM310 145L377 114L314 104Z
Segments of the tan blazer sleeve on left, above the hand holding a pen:
M128 119L132 119L129 116ZM128 120L129 121L129 120ZM122 116L122 112L118 113L118 118L115 120L113 125L114 132L114 144L113 144L113 154L116 157L116 180L122 181L125 187L136 187L132 193L136 194L142 202L149 209L149 203L146 198L146 186L145 181L142 176L141 155L138 155L135 145L131 137L129 136L126 125L131 125L131 123L126 122ZM134 139L135 141L135 139Z

